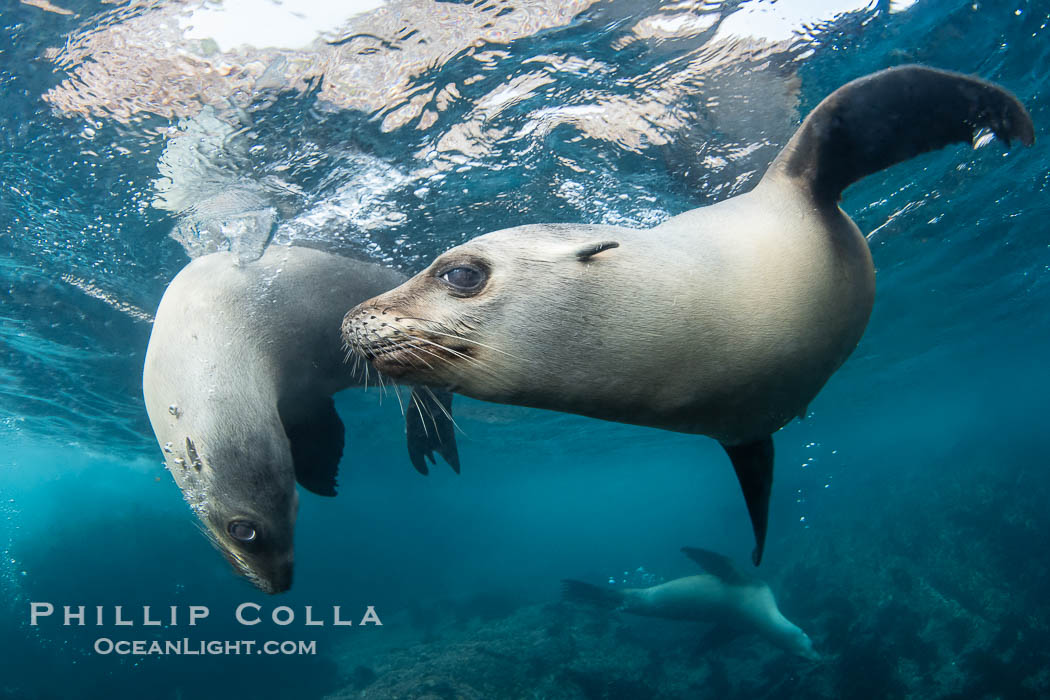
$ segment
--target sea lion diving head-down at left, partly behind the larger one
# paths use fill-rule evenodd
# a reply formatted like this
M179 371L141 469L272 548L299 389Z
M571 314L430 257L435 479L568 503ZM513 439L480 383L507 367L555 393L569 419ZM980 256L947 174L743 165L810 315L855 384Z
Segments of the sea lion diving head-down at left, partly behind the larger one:
M344 362L339 320L404 280L370 262L270 247L253 262L200 257L161 299L143 395L168 470L205 532L267 593L292 584L295 483L335 495L343 425L332 395L364 376ZM450 399L414 391L408 451L459 471ZM424 420L425 419L425 420Z

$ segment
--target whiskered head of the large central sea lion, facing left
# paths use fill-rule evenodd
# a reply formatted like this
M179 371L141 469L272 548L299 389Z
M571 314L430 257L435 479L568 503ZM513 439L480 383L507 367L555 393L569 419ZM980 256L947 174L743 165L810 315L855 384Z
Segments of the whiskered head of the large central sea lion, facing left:
M578 300L602 284L595 267L610 263L615 231L525 226L474 238L352 309L343 340L358 361L399 381L542 405L538 388L559 391L575 368L592 374L579 348L593 348L600 332Z

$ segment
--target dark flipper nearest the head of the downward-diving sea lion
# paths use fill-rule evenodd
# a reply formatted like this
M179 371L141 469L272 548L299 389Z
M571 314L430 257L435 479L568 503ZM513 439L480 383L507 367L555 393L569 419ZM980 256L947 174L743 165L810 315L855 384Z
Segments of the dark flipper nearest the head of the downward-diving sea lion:
M323 397L294 407L278 406L278 412L292 447L295 480L318 495L335 495L344 444L343 425L335 411L335 401L332 397ZM286 413L294 418L286 418Z

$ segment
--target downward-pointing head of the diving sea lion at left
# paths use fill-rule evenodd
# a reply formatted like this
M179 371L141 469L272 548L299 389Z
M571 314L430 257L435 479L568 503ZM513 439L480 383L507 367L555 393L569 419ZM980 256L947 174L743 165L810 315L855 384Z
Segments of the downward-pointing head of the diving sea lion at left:
M284 431L215 434L194 431L188 418L178 427L189 434L165 451L202 531L259 590L289 590L299 499Z

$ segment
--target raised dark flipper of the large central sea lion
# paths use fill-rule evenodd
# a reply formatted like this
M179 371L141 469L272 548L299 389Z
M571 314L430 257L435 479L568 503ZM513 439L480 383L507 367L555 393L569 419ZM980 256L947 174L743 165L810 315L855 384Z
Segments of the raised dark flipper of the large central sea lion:
M992 83L923 66L900 66L846 83L824 98L770 166L768 176L804 181L821 204L895 163L990 129L1031 146L1032 120Z

